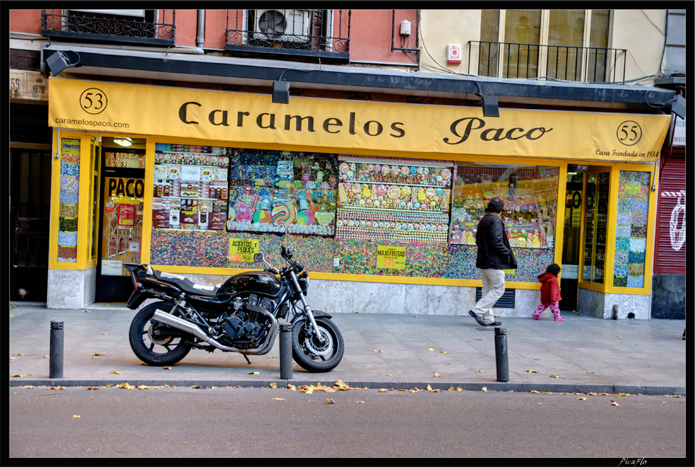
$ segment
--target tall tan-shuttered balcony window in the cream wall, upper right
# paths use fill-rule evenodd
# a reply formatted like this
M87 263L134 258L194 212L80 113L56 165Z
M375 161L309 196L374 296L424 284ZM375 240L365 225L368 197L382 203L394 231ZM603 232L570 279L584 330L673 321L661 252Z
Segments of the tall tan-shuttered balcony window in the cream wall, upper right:
M610 10L482 10L478 74L607 81Z

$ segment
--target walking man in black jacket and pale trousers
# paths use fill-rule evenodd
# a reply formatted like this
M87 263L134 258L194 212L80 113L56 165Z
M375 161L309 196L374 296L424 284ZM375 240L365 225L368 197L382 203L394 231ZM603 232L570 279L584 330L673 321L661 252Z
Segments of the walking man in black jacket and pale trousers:
M500 198L492 198L485 209L485 215L477 226L475 244L478 254L475 267L480 269L482 278L482 296L475 303L475 308L468 314L482 326L498 326L492 314L492 307L505 293L505 271L516 269L516 258L509 245L505 225L500 219L500 213L505 204Z

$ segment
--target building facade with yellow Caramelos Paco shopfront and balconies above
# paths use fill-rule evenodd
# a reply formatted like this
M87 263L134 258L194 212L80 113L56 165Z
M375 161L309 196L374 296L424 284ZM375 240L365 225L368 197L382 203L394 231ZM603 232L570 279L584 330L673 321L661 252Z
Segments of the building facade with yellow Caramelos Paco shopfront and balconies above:
M651 316L676 93L628 84L662 50L626 24L666 10L13 15L51 38L49 307L124 301L124 262L215 285L288 241L316 309L464 314L499 196L519 263L500 316L530 316L553 262L566 309Z

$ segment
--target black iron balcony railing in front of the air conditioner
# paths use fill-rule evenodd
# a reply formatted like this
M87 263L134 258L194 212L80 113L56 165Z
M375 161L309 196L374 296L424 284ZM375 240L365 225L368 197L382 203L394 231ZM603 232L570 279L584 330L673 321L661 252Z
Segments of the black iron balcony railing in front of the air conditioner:
M225 50L350 59L352 10L227 10Z

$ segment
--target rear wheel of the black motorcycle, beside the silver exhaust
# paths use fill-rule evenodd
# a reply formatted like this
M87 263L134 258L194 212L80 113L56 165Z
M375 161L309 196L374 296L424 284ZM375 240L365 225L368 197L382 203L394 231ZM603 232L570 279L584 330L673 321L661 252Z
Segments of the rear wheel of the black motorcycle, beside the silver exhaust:
M190 352L190 346L186 344L186 339L193 340L193 336L190 336L190 334L183 333L183 337L173 337L171 339L167 335L161 335L155 339L158 343L153 342L149 335L149 329L152 326L161 329L168 328L161 323L150 321L152 316L154 316L154 310L161 309L163 312L168 313L173 306L172 303L166 302L151 303L143 307L131 322L129 331L131 348L133 353L148 365L170 366L180 362ZM176 332L179 336L182 335L179 330L172 330L172 332Z

